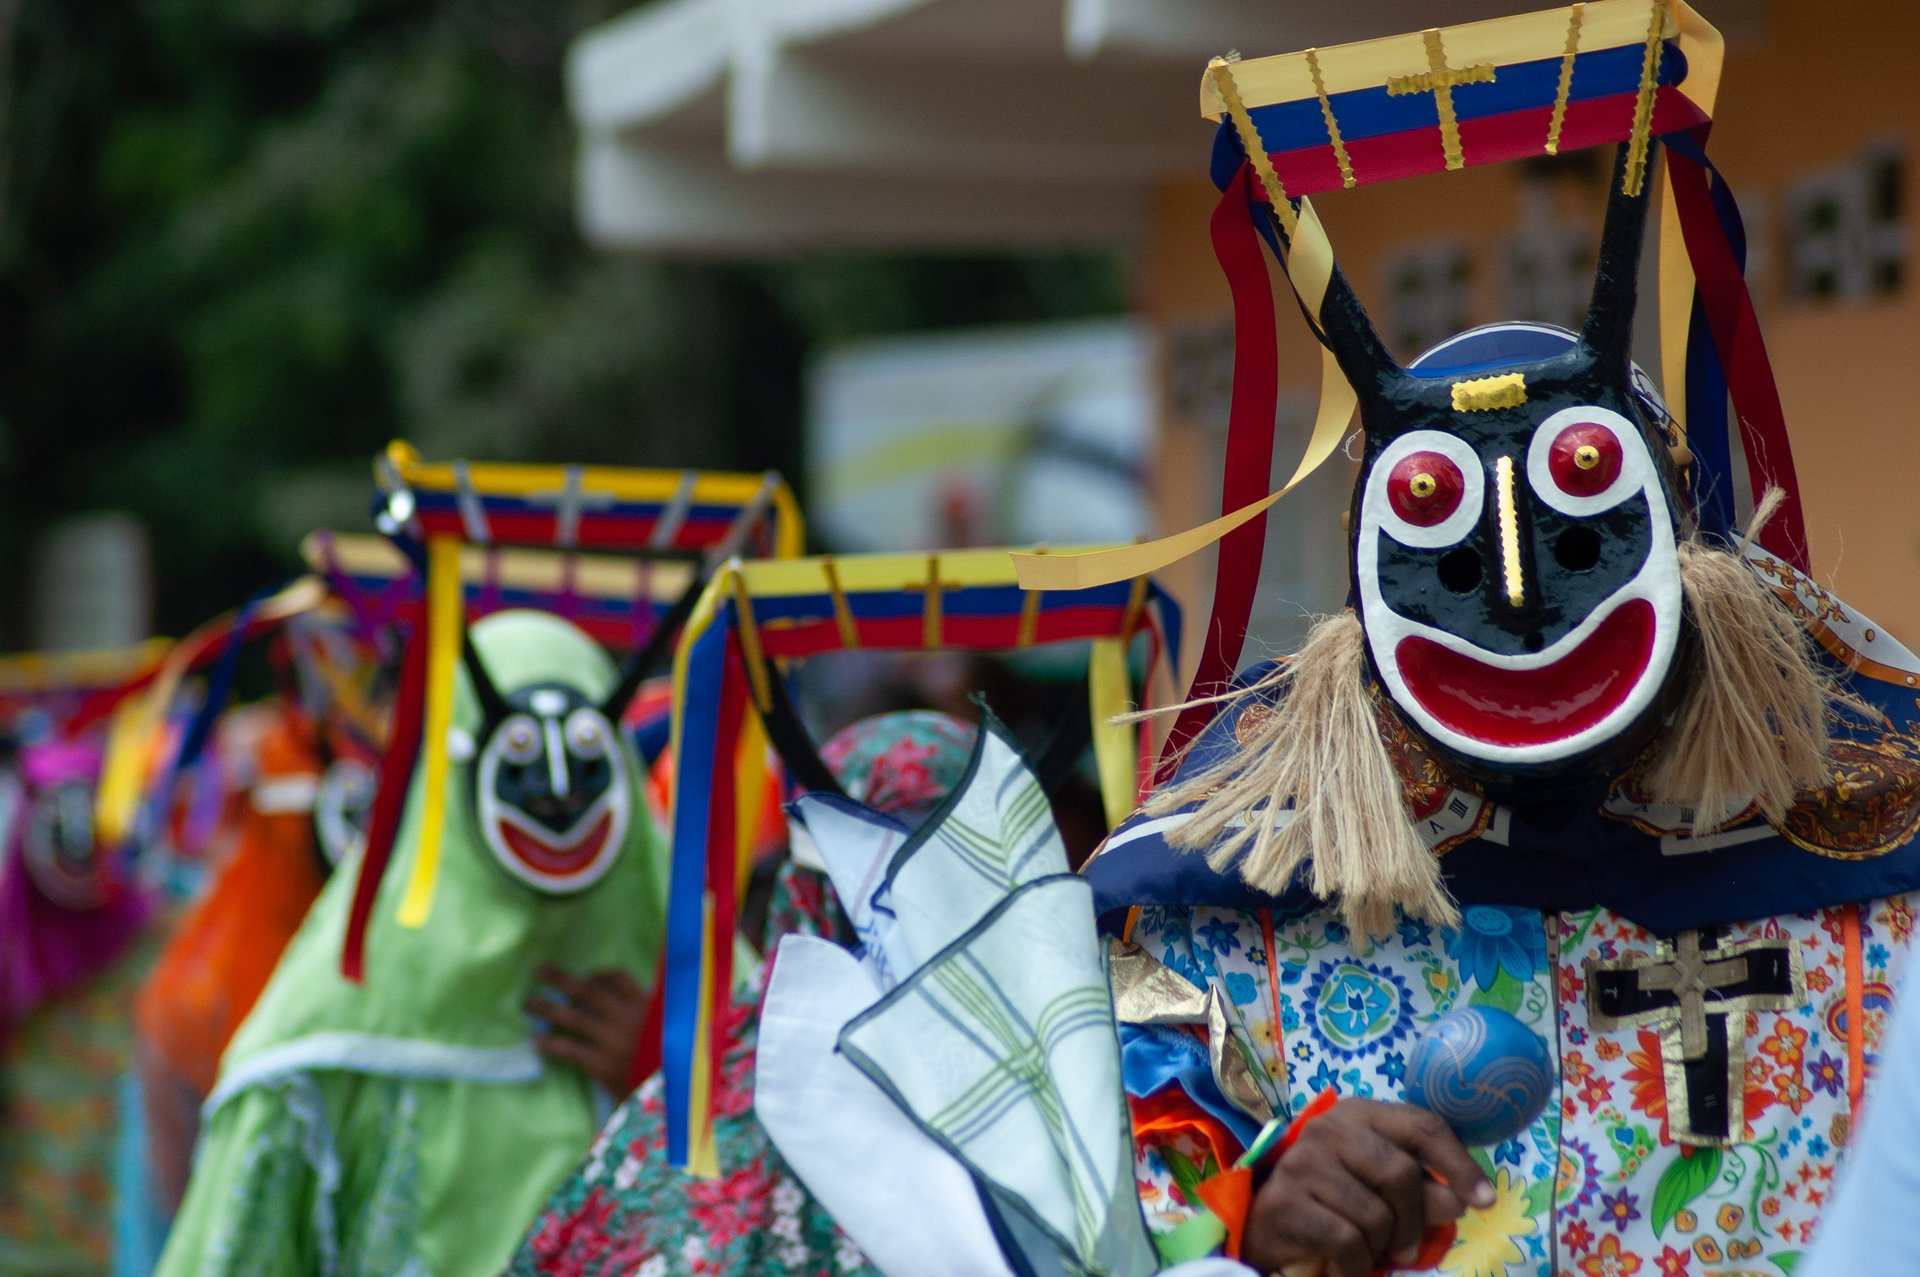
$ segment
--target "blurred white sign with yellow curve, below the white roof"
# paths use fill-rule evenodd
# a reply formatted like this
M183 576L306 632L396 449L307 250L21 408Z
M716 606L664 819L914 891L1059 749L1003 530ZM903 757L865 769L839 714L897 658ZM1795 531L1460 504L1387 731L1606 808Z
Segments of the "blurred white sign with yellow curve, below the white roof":
M808 522L835 551L1148 534L1137 323L860 342L814 365L808 390Z

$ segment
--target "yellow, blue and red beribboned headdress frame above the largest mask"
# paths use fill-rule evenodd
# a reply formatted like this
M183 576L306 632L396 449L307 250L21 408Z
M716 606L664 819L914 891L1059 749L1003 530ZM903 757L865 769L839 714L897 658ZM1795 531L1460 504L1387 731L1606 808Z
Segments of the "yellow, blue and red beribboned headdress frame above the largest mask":
M1200 84L1202 115L1221 125L1213 179L1223 198L1213 248L1233 286L1235 386L1221 517L1144 545L1092 555L1020 557L1033 588L1085 588L1150 574L1215 542L1213 614L1192 695L1231 676L1252 614L1263 517L1332 455L1356 396L1323 351L1321 407L1294 474L1265 492L1279 396L1275 321L1260 238L1275 250L1315 334L1321 307L1346 282L1306 196L1419 173L1440 173L1624 142L1624 184L1647 177L1651 138L1668 138L1670 188L1663 225L1663 349L1672 378L1682 361L1713 361L1718 346L1745 432L1755 492L1788 490L1768 536L1805 563L1805 534L1778 392L1751 323L1751 300L1726 240L1738 238L1732 200L1709 186L1701 148L1722 65L1720 35L1684 0L1592 0L1538 13L1363 40L1258 60L1215 58ZM1715 175L1716 177L1716 175ZM1690 194L1697 188L1697 194ZM1732 225L1728 225L1732 217ZM1699 300L1693 267L1709 263ZM1713 342L1688 342L1711 319ZM1690 380L1693 380L1690 376ZM1724 382L1722 382L1724 386ZM1774 545L1770 545L1774 547ZM1185 714L1169 751L1206 711Z

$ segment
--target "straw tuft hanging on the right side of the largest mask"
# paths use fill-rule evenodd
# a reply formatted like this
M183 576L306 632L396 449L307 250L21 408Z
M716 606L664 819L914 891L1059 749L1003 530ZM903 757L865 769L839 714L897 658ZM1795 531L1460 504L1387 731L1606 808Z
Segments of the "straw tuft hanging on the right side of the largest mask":
M1780 501L1778 488L1761 497L1740 549ZM1695 831L1724 826L1749 803L1780 820L1797 793L1828 780L1830 707L1859 703L1740 553L1682 542L1680 586L1699 634L1697 668L1645 766L1647 795L1692 808Z

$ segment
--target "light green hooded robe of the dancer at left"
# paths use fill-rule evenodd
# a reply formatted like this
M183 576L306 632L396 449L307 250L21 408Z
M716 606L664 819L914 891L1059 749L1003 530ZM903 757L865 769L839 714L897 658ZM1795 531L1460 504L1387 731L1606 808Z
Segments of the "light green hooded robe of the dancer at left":
M501 613L472 638L503 691L551 680L599 699L614 680L591 639L541 613ZM455 722L478 720L463 670ZM468 766L451 764L426 926L396 920L419 847L417 774L365 983L340 976L349 860L227 1048L161 1277L497 1273L593 1141L593 1085L534 1052L522 1002L543 962L651 981L664 847L636 791L607 876L572 897L536 895L480 841Z

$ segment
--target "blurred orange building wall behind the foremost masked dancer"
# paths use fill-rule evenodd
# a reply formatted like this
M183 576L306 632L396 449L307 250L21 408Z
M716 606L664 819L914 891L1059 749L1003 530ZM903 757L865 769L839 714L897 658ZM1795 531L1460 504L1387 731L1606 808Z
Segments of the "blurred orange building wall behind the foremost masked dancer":
M1736 2L1751 8L1755 0L1695 0L1695 8L1713 19ZM1759 230L1751 253L1766 253L1755 273L1755 303L1793 438L1814 574L1920 649L1920 4L1776 2L1764 19L1749 15L1741 33L1745 38L1728 48L1713 156L1741 204L1761 213L1749 213L1749 230ZM1905 288L1874 303L1782 300L1782 190L1885 138L1901 138L1905 150ZM1196 129L1196 171L1204 161L1206 133ZM1563 213L1588 215L1597 232L1605 192L1599 171L1588 169L1592 175L1555 181L1553 198ZM1436 238L1469 248L1475 323L1530 319L1498 311L1498 253L1517 223L1521 186L1517 165L1501 165L1334 192L1315 204L1342 265L1382 321L1382 253ZM1140 307L1162 330L1227 313L1227 288L1208 244L1213 200L1204 177L1158 192ZM1651 296L1642 300L1640 326L1640 349L1651 351ZM1281 338L1283 380L1309 390L1319 363L1290 303L1283 305ZM1200 422L1164 411L1158 501L1167 530L1217 513L1219 476L1204 461L1208 434ZM1296 453L1304 442L1283 438L1281 451ZM1283 472L1290 469L1292 455ZM1304 526L1292 543L1304 555L1346 553L1338 526ZM1196 563L1171 580L1198 607L1210 572Z

